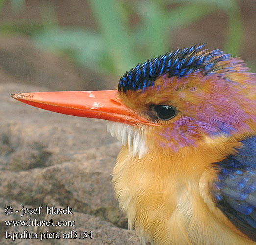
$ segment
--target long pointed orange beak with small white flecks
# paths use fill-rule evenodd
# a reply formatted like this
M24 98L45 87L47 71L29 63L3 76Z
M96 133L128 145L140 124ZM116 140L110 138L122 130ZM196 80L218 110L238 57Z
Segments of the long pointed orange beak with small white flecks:
M23 103L62 114L159 126L139 116L117 98L117 90L61 91L11 94Z

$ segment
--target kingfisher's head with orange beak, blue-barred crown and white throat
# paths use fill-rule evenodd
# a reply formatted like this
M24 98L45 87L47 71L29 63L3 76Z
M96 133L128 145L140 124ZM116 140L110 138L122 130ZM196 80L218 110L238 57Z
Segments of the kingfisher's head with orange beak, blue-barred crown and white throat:
M113 121L109 131L133 154L176 152L256 131L256 76L238 58L203 46L138 64L117 90L15 94L43 109Z

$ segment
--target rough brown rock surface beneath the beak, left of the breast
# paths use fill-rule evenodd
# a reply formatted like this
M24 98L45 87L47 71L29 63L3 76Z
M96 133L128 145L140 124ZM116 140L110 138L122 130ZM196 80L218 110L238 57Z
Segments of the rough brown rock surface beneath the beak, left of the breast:
M123 229L126 219L115 201L111 171L120 148L106 132L106 122L71 117L22 104L10 93L46 88L0 83L0 244L139 245ZM12 214L4 213L11 206ZM38 208L23 217L21 207ZM73 214L46 215L45 206L72 208ZM4 221L75 221L75 226L6 227ZM55 224L55 223L54 223ZM122 228L120 228L122 227ZM63 233L92 231L87 239L5 239L5 231ZM75 236L75 235L74 235Z

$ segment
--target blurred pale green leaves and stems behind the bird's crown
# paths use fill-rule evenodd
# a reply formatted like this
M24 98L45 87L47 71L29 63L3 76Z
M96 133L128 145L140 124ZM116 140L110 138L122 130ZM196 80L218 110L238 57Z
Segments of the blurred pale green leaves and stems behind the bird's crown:
M0 7L4 2L0 0ZM43 24L0 24L0 31L21 32L48 49L69 55L81 65L120 76L137 63L172 50L170 43L175 29L221 9L229 17L229 33L224 50L239 55L242 48L243 25L236 0L88 2L99 25L98 31L60 27L54 6L42 9ZM19 11L24 8L25 0L11 0L11 4ZM139 21L131 25L134 16Z

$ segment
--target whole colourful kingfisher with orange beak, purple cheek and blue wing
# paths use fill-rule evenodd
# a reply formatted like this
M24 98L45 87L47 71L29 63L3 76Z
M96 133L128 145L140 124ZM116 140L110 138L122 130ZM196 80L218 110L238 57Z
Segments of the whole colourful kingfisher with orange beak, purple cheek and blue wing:
M115 197L142 245L256 245L256 74L204 47L139 63L114 90L11 95L109 121Z

